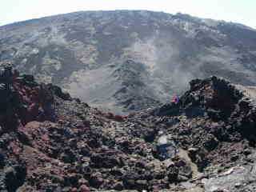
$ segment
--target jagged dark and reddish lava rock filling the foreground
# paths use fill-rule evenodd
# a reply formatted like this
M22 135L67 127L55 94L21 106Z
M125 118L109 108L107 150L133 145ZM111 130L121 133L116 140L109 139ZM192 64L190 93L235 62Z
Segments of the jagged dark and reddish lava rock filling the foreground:
M195 79L177 104L119 116L30 75L0 80L1 191L255 190L245 87Z

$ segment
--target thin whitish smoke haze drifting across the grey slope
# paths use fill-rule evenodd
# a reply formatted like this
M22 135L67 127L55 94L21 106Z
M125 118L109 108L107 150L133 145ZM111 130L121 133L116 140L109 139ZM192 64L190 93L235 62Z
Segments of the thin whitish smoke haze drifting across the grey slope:
M194 74L183 68L186 58L182 58L182 48L177 39L166 38L155 34L142 41L136 40L132 46L124 50L126 58L141 62L146 66L150 84L158 97L168 100L171 94L180 94L185 90ZM165 94L162 94L165 93Z

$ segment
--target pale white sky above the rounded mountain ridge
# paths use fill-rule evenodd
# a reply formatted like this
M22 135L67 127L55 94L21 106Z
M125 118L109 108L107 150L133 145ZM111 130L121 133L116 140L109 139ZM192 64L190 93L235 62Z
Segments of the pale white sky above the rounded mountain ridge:
M79 10L157 10L240 22L256 29L256 0L0 0L0 26Z

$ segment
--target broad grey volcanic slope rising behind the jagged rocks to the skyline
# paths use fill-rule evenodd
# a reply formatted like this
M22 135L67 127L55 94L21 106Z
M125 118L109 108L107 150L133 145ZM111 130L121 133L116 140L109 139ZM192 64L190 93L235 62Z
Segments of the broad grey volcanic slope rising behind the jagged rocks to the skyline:
M0 27L0 61L117 113L170 101L193 78L256 83L256 30L150 11L88 11Z

